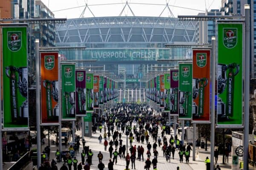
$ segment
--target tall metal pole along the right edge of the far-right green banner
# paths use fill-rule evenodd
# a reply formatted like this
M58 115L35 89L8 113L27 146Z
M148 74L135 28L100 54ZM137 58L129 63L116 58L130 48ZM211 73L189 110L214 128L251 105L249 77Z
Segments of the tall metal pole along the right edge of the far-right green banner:
M249 158L249 97L250 97L250 5L244 5L245 59L244 59L244 170L248 170Z

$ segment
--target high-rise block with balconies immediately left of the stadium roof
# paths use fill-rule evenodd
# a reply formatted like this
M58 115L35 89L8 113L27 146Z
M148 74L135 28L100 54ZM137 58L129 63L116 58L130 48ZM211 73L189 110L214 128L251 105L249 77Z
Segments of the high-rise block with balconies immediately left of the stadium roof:
M41 0L35 1L35 18L54 18L52 11ZM35 39L40 40L40 46L55 46L55 24L35 24L33 29Z

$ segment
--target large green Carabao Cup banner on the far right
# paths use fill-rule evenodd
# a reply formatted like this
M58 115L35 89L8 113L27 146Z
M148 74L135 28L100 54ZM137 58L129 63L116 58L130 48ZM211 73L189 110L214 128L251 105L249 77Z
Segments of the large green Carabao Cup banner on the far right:
M243 125L244 23L217 23L217 125Z

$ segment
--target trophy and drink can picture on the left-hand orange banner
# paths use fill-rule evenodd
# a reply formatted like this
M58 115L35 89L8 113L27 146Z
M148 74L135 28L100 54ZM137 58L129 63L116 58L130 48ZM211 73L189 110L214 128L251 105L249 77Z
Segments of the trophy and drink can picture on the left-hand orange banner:
M59 106L58 106L58 81L44 80L43 86L46 88L46 105L47 105L47 119L55 120L59 116ZM57 105L52 110L52 98Z

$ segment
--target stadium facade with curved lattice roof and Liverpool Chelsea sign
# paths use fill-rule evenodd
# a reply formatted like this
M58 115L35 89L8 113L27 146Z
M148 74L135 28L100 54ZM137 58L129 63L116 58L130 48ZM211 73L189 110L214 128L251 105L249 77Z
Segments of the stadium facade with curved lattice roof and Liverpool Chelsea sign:
M156 66L176 66L177 59L191 57L190 47L166 48L166 44L195 44L195 22L172 17L91 17L68 19L56 25L56 46L81 47L84 50L60 51L68 60L96 60L78 62L77 67L104 66L122 79L138 79L156 70ZM159 62L159 59L174 59ZM161 70L160 68L158 70ZM102 70L102 69L101 69ZM131 83L130 88L138 87ZM129 84L126 84L129 88Z

